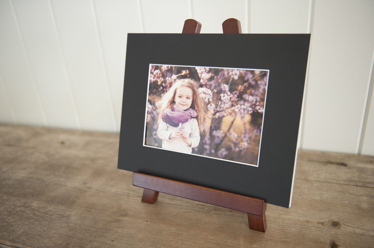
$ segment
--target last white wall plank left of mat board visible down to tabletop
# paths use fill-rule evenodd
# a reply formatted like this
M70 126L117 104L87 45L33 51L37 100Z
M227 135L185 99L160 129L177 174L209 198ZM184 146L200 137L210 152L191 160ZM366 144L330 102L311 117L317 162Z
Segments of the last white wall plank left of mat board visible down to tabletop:
M53 0L52 8L82 128L118 131L91 2Z

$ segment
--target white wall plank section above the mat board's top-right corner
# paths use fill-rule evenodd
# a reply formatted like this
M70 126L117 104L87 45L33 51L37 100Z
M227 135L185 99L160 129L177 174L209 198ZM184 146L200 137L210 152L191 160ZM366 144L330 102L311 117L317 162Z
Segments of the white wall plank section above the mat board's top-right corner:
M300 34L308 30L309 0L250 0L249 32Z

